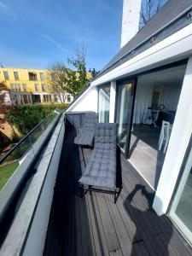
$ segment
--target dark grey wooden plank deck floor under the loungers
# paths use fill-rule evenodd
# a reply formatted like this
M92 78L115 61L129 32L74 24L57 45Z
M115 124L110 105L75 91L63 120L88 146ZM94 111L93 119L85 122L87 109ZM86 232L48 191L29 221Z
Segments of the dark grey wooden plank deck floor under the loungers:
M90 158L67 131L55 186L44 255L192 255L166 216L151 208L154 193L121 155L123 189L112 195L79 197L78 180Z

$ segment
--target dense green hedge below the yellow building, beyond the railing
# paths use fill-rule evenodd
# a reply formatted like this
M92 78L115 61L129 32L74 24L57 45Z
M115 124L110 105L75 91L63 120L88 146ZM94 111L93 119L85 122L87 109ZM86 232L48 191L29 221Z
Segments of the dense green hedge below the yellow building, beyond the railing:
M15 125L22 135L26 135L26 133L38 125L55 108L63 111L64 108L67 108L67 104L13 107L10 108L9 122Z

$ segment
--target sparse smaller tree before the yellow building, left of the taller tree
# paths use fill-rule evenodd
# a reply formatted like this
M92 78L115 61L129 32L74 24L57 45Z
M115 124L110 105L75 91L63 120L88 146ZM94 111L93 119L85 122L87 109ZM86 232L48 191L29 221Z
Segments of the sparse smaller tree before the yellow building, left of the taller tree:
M56 62L49 68L47 84L49 90L59 96L61 103L64 103L64 93L66 92L67 67L61 62Z

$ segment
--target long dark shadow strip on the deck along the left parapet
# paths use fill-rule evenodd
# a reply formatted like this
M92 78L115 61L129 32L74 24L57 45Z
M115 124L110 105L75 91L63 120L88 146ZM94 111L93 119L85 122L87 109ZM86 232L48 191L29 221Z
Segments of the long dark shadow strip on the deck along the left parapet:
M85 198L79 197L84 160L73 144L76 135L74 126L67 122L44 255L94 255L89 209Z

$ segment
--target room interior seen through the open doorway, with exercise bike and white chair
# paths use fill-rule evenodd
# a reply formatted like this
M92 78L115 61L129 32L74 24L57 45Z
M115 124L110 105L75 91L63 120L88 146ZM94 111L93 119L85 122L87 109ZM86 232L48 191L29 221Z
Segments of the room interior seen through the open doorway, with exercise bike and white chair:
M183 84L185 65L138 78L129 160L156 189Z

